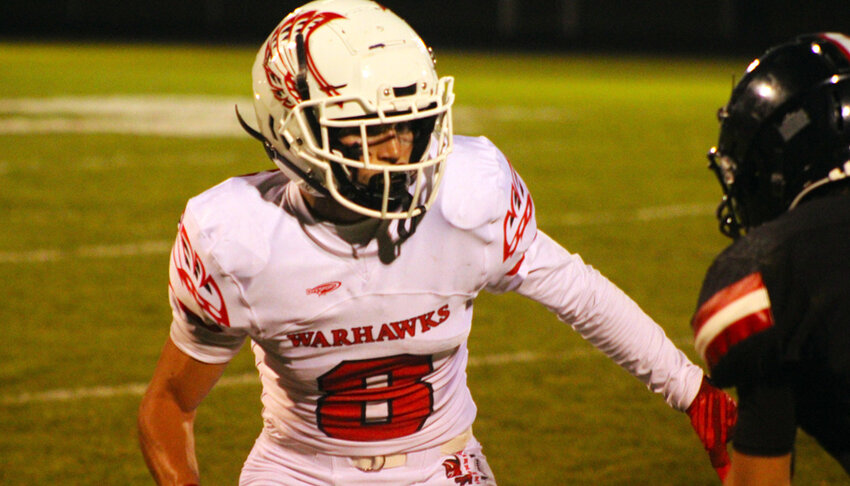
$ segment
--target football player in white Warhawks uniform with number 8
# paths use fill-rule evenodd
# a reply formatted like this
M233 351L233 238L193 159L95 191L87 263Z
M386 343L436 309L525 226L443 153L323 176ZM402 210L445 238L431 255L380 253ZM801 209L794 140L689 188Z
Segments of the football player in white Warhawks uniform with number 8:
M139 412L159 483L199 483L195 410L250 338L264 428L240 484L495 484L465 371L482 290L548 307L689 411L725 464L734 402L537 229L489 140L453 136L453 80L402 19L308 3L263 44L253 82L259 128L239 120L278 170L229 179L181 218L171 333Z

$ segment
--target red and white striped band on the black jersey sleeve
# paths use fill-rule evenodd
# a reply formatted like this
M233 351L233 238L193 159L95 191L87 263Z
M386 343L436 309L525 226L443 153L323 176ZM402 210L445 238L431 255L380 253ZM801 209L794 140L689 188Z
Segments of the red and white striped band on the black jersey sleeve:
M694 347L709 367L735 344L771 326L770 298L758 272L714 294L691 322Z

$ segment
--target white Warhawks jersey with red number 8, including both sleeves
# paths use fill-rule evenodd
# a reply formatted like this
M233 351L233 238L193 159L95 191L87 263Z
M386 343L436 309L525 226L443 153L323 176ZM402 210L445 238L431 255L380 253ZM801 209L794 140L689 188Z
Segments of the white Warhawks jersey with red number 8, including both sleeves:
M446 164L403 241L396 222L314 220L277 171L192 198L171 255L172 340L224 363L249 337L267 432L332 455L435 447L472 424L466 340L485 289L541 302L668 403L690 404L701 370L537 230L531 195L489 140L457 136Z

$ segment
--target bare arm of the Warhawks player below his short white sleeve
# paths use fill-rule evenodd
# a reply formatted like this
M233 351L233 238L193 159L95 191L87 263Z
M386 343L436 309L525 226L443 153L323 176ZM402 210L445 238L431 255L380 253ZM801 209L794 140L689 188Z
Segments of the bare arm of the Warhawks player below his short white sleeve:
M224 368L225 365L196 361L171 340L166 342L138 416L142 455L157 484L199 482L193 432L195 409Z

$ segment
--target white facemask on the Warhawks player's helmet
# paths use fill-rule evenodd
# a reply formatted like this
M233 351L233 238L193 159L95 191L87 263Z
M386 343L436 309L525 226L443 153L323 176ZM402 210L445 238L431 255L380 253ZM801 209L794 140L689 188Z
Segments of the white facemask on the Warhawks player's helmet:
M321 171L328 196L345 208L372 218L412 218L434 202L443 162L452 149L451 85L451 78L441 79L439 92L443 96L424 108L417 106L416 95L389 95L392 101L386 109L352 118L331 116L341 106L362 107L366 100L334 97L304 102L292 110L281 133L294 155ZM388 91L401 90L382 89L384 95ZM422 100L433 97L419 98ZM398 110L399 106L406 109ZM315 123L310 118L315 118ZM394 132L398 139L395 143L410 145L409 160L393 164L373 159L371 146L380 144L388 132ZM357 141L345 145L343 136ZM362 181L360 171L375 174Z

